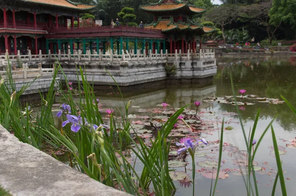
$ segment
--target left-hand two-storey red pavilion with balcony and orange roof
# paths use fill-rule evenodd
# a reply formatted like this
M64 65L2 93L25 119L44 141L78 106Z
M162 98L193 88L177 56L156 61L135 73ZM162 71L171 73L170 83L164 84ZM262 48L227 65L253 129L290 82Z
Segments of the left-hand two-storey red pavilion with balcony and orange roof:
M45 27L71 27L79 13L95 6L70 0L0 0L0 54L7 49L17 54L28 47L32 53L46 53Z

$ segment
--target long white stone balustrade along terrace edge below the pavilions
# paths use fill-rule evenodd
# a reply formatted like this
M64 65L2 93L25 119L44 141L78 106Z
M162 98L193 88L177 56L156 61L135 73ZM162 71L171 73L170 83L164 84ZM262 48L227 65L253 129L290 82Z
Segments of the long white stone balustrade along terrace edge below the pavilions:
M66 52L66 51L65 51ZM113 51L107 52L107 54L103 54L101 50L99 50L99 54L97 54L94 50L87 51L86 54L82 54L81 50L75 54L71 54L70 50L68 50L68 54L61 54L61 50L59 50L59 54L51 54L48 51L48 54L42 54L41 50L39 50L38 55L32 55L29 50L28 55L21 55L20 51L18 51L17 55L8 55L6 51L6 55L0 56L0 62L11 62L11 63L26 63L26 62L44 62L44 61L60 61L60 62L120 62L120 61L146 61L146 60L194 60L194 59L211 59L215 58L215 51L212 49L200 49L199 53L193 53L192 50L187 50L186 53L182 53L181 50L176 50L173 54L168 54L168 50L163 53L160 50L159 54L157 50L153 54L151 50L148 51L146 55L146 51L144 50L144 54L140 53L141 50L137 51L137 54L134 54L128 51L123 51L122 54L113 54ZM95 53L95 54L94 54Z

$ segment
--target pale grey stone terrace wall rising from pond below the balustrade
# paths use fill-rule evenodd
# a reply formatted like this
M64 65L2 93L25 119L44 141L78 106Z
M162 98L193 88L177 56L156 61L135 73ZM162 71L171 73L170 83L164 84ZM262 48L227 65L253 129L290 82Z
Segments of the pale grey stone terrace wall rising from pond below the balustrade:
M77 62L76 62L77 63ZM115 85L113 76L119 86L144 84L164 79L194 79L207 78L217 73L216 59L172 60L168 63L177 68L175 75L169 77L165 71L167 60L121 61L121 62L80 62L85 68L86 78L97 85ZM77 82L77 72L74 62L60 62L68 80ZM106 71L107 70L107 71ZM59 74L63 78L62 74ZM81 76L79 75L81 81Z

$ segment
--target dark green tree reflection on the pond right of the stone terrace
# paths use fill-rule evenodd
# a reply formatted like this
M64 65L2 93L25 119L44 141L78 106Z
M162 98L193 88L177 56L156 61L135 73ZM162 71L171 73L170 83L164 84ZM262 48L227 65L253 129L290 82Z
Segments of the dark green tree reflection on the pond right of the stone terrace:
M221 61L217 60L217 61ZM217 96L232 95L230 73L232 72L234 88L246 89L248 94L259 97L280 98L283 95L293 105L296 105L296 67L291 64L290 57L284 58L243 58L218 62L219 68L215 83ZM259 62L259 63L258 63ZM239 64L238 64L239 63ZM258 103L246 106L242 117L246 120L256 116L256 111L261 107L261 118L277 117L277 122L288 131L295 130L296 116L284 103L280 105L267 105ZM221 104L221 108L233 112L232 105Z

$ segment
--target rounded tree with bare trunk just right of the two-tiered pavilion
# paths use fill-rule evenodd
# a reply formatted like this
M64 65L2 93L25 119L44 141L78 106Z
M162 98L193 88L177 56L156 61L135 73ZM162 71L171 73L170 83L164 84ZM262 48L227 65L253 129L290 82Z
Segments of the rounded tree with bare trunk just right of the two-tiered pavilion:
M205 13L205 17L210 21L213 21L216 27L221 28L222 37L225 41L225 26L230 25L237 20L239 13L239 6L236 4L223 4L219 7L215 7Z

